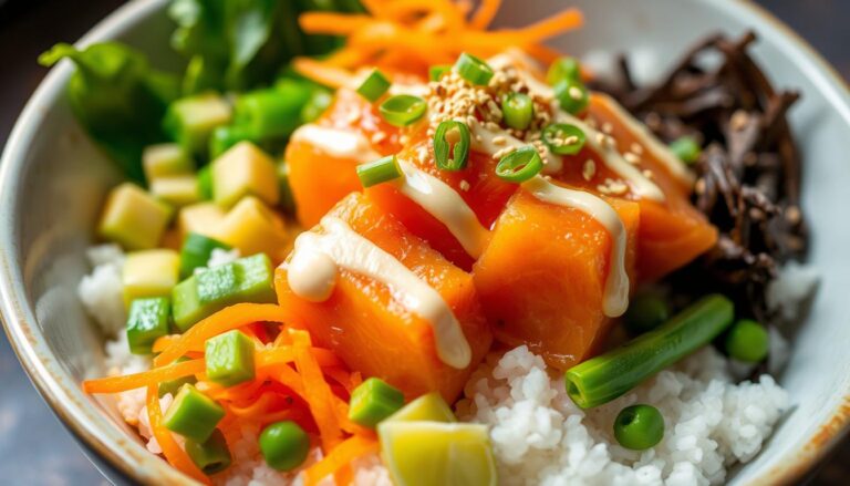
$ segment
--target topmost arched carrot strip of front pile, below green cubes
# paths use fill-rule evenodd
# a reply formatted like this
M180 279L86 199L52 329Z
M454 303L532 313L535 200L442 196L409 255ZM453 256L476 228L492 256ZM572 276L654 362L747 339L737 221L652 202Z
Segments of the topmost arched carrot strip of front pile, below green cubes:
M207 339L231 329L239 329L253 322L280 322L287 320L283 309L273 303L237 303L204 319L186 331L180 339L163 350L155 360L157 366L168 364L194 349L204 349Z

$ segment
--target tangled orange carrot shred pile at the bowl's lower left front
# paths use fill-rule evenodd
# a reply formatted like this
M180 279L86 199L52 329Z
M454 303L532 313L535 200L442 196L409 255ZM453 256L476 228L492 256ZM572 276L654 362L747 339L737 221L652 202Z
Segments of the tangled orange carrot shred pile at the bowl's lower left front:
M349 417L351 391L362 382L330 350L312 344L307 331L287 323L277 304L240 303L228 307L195 324L182 335L159 338L159 354L145 372L83 382L86 393L121 393L146 389L146 410L154 438L163 456L187 476L210 484L189 458L175 435L163 424L158 385L169 380L195 376L196 387L225 407L218 428L228 444L241 436L245 426L261 430L279 421L293 421L310 434L322 451L322 459L304 469L308 484L333 476L338 484L352 477L350 464L377 451L373 431ZM255 379L222 386L206 376L204 358L208 339L238 329L255 341ZM269 330L271 329L271 330ZM186 360L180 360L186 358Z

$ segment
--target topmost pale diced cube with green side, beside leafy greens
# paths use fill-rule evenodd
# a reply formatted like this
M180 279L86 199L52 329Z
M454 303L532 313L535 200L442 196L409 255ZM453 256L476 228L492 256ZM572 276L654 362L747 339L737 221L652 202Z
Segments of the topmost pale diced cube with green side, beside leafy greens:
M216 127L230 123L231 112L220 95L201 93L168 105L163 124L186 152L205 157L210 134Z

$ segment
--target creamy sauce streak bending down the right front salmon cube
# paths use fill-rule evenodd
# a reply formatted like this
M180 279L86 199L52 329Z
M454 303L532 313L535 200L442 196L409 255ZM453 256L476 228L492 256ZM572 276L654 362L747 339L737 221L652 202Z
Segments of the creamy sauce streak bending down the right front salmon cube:
M522 183L522 187L539 200L585 213L608 230L612 245L602 311L611 318L622 316L629 307L629 275L625 271L628 235L616 210L588 192L557 186L541 176Z

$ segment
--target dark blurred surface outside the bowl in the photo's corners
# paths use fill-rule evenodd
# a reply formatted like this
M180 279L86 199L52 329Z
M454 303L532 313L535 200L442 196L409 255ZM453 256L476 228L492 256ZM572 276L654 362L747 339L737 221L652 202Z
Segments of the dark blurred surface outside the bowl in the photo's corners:
M510 1L510 0L508 0ZM604 1L604 0L600 0ZM746 0L727 0L746 1ZM0 0L0 147L18 113L46 73L37 56L56 42L73 42L122 0ZM850 80L848 0L758 0L787 22ZM105 484L18 364L0 335L0 484ZM850 483L850 444L813 476L813 485Z

